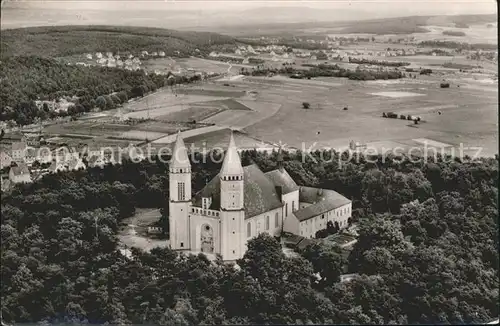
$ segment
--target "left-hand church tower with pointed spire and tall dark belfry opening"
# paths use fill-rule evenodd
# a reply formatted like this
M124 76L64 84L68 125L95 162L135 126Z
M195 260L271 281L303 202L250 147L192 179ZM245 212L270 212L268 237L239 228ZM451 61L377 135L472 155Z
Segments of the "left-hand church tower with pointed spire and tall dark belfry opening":
M169 190L170 247L174 250L188 250L190 249L191 163L180 132L177 134L169 166Z

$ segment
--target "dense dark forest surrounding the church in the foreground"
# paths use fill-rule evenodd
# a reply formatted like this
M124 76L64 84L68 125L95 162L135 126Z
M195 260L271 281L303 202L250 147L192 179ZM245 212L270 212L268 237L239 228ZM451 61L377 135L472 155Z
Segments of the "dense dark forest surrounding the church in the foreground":
M347 260L338 247L323 245L291 258L265 234L251 240L239 268L169 249L121 255L123 218L139 207L168 210L168 164L158 158L18 186L1 203L3 321L382 325L496 318L498 156L346 155L317 151L303 160L284 152L283 164L298 184L352 199L359 237ZM193 160L193 191L218 173L213 158ZM268 171L277 153L243 152L242 162ZM359 276L341 283L344 264Z

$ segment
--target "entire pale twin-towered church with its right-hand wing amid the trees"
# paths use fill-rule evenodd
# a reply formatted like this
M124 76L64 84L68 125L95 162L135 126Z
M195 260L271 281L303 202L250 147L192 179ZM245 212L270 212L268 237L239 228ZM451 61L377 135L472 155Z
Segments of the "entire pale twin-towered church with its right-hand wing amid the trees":
M192 197L191 164L179 134L169 166L170 247L234 261L245 254L247 241L263 232L310 238L328 221L347 226L349 199L298 186L278 163L267 173L255 164L243 167L231 134L221 171Z

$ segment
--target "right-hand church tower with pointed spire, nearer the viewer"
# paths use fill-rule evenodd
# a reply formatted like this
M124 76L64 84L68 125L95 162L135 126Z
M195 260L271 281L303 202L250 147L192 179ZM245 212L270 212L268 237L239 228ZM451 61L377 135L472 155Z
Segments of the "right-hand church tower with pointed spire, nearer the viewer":
M224 260L239 259L246 251L243 177L243 167L231 132L220 172L220 243Z

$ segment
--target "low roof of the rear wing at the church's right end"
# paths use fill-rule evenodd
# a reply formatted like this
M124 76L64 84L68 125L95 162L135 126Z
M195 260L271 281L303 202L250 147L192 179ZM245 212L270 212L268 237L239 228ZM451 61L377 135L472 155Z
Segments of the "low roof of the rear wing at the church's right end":
M300 187L299 202L311 204L293 212L299 221L305 221L311 217L347 205L351 201L333 190Z

